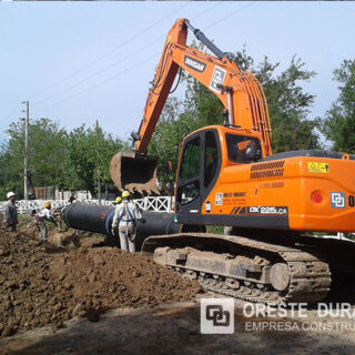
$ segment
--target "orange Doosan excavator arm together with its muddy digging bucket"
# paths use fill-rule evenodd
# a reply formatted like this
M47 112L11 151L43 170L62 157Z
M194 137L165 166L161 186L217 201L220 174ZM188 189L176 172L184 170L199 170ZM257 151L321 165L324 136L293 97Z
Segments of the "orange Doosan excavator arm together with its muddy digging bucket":
M186 45L189 29L214 55ZM265 155L272 154L266 99L256 78L248 71L241 71L229 53L221 51L189 20L179 19L168 33L139 131L131 134L133 153L119 153L111 162L111 176L120 190L158 190L154 187L156 161L146 156L146 151L179 68L221 100L230 125L261 133Z

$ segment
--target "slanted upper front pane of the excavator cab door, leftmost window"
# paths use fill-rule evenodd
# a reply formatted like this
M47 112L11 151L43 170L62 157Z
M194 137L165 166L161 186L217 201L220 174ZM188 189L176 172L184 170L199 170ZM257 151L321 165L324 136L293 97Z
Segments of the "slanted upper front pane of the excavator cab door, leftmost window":
M189 180L200 175L200 136L191 140L184 150L180 170L181 180Z

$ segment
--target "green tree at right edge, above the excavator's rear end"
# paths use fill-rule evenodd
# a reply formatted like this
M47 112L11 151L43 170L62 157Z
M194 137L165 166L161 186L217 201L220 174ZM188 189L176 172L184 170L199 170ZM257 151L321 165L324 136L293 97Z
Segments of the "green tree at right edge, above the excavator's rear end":
M355 153L355 59L334 70L339 95L322 120L322 132L335 151Z

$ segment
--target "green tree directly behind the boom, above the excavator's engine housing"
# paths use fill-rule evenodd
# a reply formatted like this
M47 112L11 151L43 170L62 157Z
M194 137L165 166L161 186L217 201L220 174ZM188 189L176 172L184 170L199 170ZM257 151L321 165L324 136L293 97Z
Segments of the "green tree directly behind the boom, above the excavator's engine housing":
M303 89L303 83L315 72L305 69L305 63L296 55L283 71L280 71L280 62L271 63L267 57L255 65L245 48L234 58L240 69L254 73L264 90L273 130L273 152L320 148L318 121L307 118L314 95Z

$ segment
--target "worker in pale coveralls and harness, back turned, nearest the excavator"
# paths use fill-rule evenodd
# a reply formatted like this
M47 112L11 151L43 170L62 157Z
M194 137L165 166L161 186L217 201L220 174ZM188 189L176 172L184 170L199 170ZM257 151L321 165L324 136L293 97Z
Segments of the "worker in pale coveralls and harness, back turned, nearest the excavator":
M115 235L116 230L119 230L121 250L124 252L135 252L138 220L142 220L142 214L132 202L130 192L123 191L122 203L119 203L115 207L112 221L112 234Z

